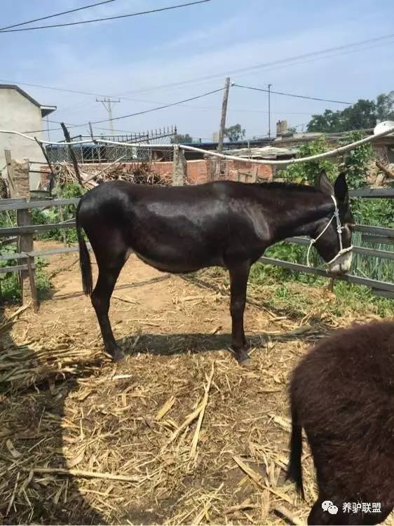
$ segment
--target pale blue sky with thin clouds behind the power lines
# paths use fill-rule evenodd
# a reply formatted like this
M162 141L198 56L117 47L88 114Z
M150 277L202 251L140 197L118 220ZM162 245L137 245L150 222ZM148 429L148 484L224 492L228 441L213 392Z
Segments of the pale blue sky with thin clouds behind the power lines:
M89 0L2 2L1 26L93 3ZM116 0L106 6L43 23L68 22L175 5L176 0ZM54 104L51 119L86 123L106 119L91 95L23 86L42 84L121 96L114 116L139 112L221 88L224 77L249 86L355 102L394 88L394 38L319 60L232 72L303 53L393 33L393 0L212 0L207 4L92 25L0 35L0 82L20 83L41 104ZM193 81L215 76L205 81ZM179 86L169 83L192 81ZM127 97L122 98L122 95ZM222 93L158 112L115 121L119 130L142 131L176 124L180 133L212 139L219 125ZM341 104L271 98L271 128L278 119L290 126ZM267 95L233 87L229 125L240 123L247 136L268 130ZM55 126L51 124L50 126ZM107 127L107 123L97 126ZM73 133L87 133L86 127ZM95 128L100 132L98 128ZM51 137L58 138L56 132Z

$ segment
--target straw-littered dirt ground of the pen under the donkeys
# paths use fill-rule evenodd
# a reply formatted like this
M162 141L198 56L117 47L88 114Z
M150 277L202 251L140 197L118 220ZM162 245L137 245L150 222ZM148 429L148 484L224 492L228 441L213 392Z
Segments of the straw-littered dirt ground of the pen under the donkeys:
M308 450L306 501L284 482L287 384L327 324L289 320L254 297L252 367L242 368L223 278L169 276L132 256L111 301L127 353L114 365L77 255L51 257L47 271L53 290L39 312L11 320L6 309L0 335L4 524L290 523L283 508L306 523L316 497Z

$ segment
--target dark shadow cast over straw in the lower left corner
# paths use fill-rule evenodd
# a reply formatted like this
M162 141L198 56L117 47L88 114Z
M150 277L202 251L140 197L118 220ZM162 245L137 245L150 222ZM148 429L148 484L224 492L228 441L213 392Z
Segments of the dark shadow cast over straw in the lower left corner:
M6 323L1 316L0 325ZM3 325L4 327L4 325ZM15 349L9 328L0 335L0 352ZM17 346L18 347L18 346ZM89 364L84 365L86 367ZM78 371L83 374L83 367ZM0 382L0 522L16 524L105 524L79 490L75 478L29 472L29 467L67 468L62 454L62 417L75 378L22 386ZM11 500L12 499L12 500Z

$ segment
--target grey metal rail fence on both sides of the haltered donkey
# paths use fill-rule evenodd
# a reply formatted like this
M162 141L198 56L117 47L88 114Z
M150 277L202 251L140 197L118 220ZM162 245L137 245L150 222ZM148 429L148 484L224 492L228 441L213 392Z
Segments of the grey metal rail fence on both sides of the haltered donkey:
M351 191L351 197L360 198L394 198L394 189L360 189ZM32 210L34 208L48 208L48 207L59 207L64 205L76 205L79 202L79 198L71 199L54 199L45 201L29 201L25 199L5 199L0 201L0 213L8 210ZM6 227L0 228L0 238L8 236L24 236L32 235L38 232L49 231L53 229L69 229L75 227L75 220L68 220L66 222L55 223L55 224L30 224L17 227ZM358 224L355 226L355 231L359 232L362 236L363 241L368 243L383 243L384 245L394 245L394 229L374 227L370 225ZM290 243L299 243L305 245L308 243L306 238L290 238L286 241ZM50 256L54 254L64 254L68 252L78 252L77 246L71 246L67 248L56 248L53 250L43 251L32 251L32 252L19 252L16 254L0 253L0 260L4 261L22 261L23 264L18 264L12 267L0 268L0 274L5 272L17 272L23 270L34 269L34 257ZM389 250L375 250L373 248L365 248L361 246L355 246L354 252L360 256L372 256L379 259L394 260L394 252ZM354 276L347 274L345 276L336 276L323 269L315 267L307 267L304 264L287 262L282 259L276 259L272 257L261 257L261 262L277 265L293 271L301 271L306 274L314 274L315 276L324 276L327 278L335 278L348 283L355 283L357 285L365 285L369 287L374 294L394 298L394 283L388 283L386 281L379 281L369 277Z

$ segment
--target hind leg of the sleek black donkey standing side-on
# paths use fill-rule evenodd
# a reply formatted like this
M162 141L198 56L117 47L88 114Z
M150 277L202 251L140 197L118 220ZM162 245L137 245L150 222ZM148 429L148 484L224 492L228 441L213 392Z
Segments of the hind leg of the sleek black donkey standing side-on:
M100 324L102 339L104 340L104 348L114 360L121 360L124 358L123 351L116 345L114 334L109 323L108 311L111 294L118 276L121 272L125 259L117 259L116 266L107 267L104 264L98 263L99 275L95 289L92 292L92 304L95 308L97 320Z

